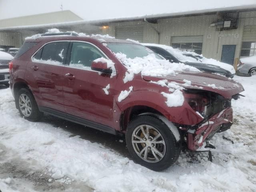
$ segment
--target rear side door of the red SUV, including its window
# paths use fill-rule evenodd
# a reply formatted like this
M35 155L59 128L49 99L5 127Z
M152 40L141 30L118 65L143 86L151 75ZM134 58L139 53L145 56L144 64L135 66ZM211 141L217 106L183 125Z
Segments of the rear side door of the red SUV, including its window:
M63 71L69 41L50 42L28 62L26 76L39 107L64 112Z

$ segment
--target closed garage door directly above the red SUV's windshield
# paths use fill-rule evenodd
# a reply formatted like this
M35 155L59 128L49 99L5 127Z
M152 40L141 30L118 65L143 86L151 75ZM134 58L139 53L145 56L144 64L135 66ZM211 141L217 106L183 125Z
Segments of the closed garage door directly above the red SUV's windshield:
M120 26L115 28L117 39L132 39L143 42L143 26Z

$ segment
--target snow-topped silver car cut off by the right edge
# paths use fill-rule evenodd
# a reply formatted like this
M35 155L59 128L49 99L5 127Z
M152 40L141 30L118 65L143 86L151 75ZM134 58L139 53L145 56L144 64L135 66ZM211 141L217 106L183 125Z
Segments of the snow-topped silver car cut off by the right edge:
M241 58L237 66L237 74L241 76L256 75L256 55Z

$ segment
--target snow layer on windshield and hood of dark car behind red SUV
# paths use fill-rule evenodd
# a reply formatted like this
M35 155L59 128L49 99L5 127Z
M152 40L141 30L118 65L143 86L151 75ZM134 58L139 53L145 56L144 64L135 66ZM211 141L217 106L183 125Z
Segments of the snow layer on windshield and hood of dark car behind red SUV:
M210 59L206 58L202 54L199 55L195 52L181 51L179 49L174 49L171 46L167 46L167 45L150 44L150 43L143 43L143 45L144 46L156 46L156 47L163 48L166 51L168 51L170 54L175 56L181 62L196 62L196 63L211 64L211 65L219 66L219 67L221 67L225 70L228 70L231 74L236 73L236 71L235 71L235 69L232 65L227 64L227 63L223 63L223 62L219 62L219 61L217 61L215 59L212 59L212 58L210 58ZM196 58L192 58L192 57L186 56L184 54L191 54L193 56L200 56L200 57L202 57L202 59L197 60Z

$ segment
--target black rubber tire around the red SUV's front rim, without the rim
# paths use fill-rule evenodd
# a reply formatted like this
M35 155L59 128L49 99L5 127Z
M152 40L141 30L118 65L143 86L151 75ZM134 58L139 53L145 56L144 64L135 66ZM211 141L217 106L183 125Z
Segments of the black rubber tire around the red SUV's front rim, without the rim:
M181 151L181 142L176 141L173 132L166 125L166 123L164 123L164 121L161 120L162 118L149 114L140 115L134 118L128 124L126 130L126 145L134 161L154 171L162 171L170 167L172 164L174 164L174 162L176 162ZM134 130L138 128L138 126L145 124L155 128L162 135L162 139L165 142L165 154L162 157L162 159L158 162L147 162L143 160L134 150L132 144L132 134Z

